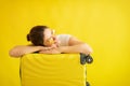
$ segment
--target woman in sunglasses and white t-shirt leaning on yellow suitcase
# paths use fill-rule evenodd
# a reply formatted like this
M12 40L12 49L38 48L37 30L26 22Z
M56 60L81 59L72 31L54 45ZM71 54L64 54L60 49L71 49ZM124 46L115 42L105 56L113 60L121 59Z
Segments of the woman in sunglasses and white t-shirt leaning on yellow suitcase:
M73 35L58 34L47 26L35 26L31 28L27 40L31 45L17 45L9 54L12 57L21 57L25 54L38 52L40 54L82 53L89 55L92 48Z

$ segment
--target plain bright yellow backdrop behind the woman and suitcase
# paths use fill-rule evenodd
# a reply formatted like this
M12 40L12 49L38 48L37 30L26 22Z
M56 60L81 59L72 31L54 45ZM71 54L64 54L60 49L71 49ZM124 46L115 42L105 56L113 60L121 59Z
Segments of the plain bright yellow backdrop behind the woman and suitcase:
M35 25L70 33L93 47L91 86L130 86L129 0L2 0L0 2L0 86L21 86L14 45L26 45Z

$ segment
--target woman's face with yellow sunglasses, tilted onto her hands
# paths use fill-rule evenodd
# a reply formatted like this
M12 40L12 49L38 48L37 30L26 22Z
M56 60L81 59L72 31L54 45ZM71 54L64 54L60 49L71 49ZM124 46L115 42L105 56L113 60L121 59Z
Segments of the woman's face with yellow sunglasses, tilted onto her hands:
M46 46L52 46L52 45L58 46L58 41L54 35L54 30L47 28L44 29L43 34L44 34L43 44Z

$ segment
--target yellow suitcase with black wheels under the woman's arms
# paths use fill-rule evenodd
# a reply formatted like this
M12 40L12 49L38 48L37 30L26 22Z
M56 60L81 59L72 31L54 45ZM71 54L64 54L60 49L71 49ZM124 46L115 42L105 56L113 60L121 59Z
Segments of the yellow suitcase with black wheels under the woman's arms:
M89 86L87 59L83 54L27 54L21 59L22 86Z

